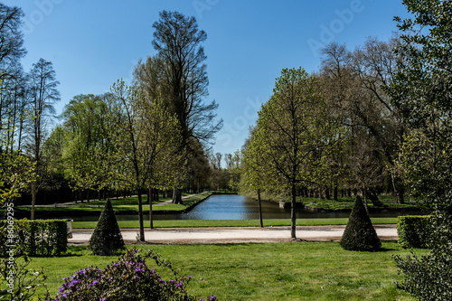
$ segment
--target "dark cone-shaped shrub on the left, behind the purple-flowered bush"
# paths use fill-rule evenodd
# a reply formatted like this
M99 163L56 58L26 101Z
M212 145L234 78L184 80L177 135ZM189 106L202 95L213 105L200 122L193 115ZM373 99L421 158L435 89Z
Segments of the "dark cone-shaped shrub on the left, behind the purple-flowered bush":
M118 249L124 249L124 240L109 200L105 203L96 229L89 239L89 249L95 255L108 256L115 254Z

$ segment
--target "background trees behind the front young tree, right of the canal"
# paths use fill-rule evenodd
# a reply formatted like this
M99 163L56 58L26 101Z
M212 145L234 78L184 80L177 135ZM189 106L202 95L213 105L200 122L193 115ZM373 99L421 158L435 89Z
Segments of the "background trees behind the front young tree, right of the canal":
M348 51L345 45L333 42L322 50L320 71L308 76L305 71L298 70L296 75L295 70L286 70L277 79L271 99L280 98L283 93L284 97L294 99L302 107L299 109L310 114L318 111L315 116L319 119L315 121L318 127L327 127L330 123L341 127L334 136L341 143L335 146L328 158L324 158L322 180L308 183L297 180L297 190L301 190L303 195L315 190L337 201L339 190L344 194L358 189L363 191L366 201L369 197L378 205L381 203L377 193L389 191L396 195L397 202L404 202L405 188L395 165L406 129L401 123L400 110L394 108L384 89L399 70L400 53L395 51L399 42L398 38L389 42L370 38L353 52ZM306 99L303 89L307 87L312 89L313 95L308 98L314 101L313 105L303 103ZM268 103L273 101L271 99ZM264 105L261 114L267 109L265 107L268 104ZM298 108L292 105L287 109L295 112ZM275 118L287 119L284 113L278 114ZM297 119L292 115L289 118ZM310 122L304 116L298 118ZM259 122L250 133L250 141L258 129ZM328 137L325 139L332 141ZM245 157L249 156L246 152L250 141L243 147ZM297 141L293 143L297 144ZM267 162L264 158L262 160ZM302 175L302 178L306 179L306 176Z

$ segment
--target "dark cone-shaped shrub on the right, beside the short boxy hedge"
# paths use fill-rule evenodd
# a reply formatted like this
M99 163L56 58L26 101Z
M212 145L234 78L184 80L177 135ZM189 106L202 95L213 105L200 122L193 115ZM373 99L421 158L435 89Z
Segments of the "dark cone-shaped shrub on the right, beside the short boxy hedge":
M363 251L373 251L381 247L381 241L359 196L356 196L352 213L345 227L341 247L348 250Z

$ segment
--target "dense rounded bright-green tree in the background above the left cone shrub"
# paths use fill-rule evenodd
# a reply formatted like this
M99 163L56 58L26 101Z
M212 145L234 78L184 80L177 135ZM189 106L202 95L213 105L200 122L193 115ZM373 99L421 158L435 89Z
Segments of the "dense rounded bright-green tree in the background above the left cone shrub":
M116 160L109 95L75 96L62 113L66 176L74 190L110 188ZM57 134L57 133L56 133ZM55 137L56 138L56 137Z

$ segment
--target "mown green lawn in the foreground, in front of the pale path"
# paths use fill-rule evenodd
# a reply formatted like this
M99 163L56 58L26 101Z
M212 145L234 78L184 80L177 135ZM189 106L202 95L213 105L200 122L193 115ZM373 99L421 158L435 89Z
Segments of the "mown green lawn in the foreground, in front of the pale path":
M131 246L127 246L131 247ZM402 276L392 255L409 255L396 242L382 242L379 252L346 251L337 242L244 243L217 245L138 245L169 259L180 273L192 276L188 291L220 300L414 300L395 287ZM71 256L34 258L43 267L54 296L62 277L80 268L105 267L116 258L89 255L70 247ZM426 250L415 249L423 254ZM152 259L148 265L155 267ZM172 274L155 267L165 279Z

